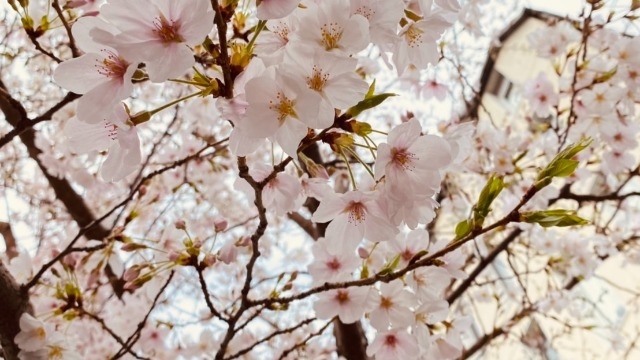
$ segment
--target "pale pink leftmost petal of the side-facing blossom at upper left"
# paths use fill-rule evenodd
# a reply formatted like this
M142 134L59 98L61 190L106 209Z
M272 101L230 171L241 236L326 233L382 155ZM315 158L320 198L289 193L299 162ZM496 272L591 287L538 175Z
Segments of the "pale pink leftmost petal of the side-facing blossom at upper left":
M56 68L53 80L63 88L76 94L84 94L109 80L96 70L96 64L104 59L100 54L85 54L67 60Z

